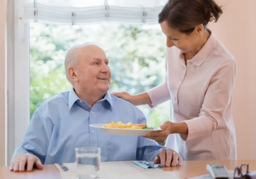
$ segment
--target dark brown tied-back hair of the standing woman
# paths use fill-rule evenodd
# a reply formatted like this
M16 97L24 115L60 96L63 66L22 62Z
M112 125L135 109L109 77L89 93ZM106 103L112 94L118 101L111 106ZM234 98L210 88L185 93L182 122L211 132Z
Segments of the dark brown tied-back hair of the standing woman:
M190 34L195 26L218 21L223 13L214 0L169 0L158 15L158 22L167 21L173 29Z

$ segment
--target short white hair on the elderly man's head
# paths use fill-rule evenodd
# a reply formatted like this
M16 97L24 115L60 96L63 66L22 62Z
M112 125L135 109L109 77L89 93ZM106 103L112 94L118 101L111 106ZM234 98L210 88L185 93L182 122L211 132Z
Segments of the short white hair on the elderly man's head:
M76 50L80 49L80 48L83 48L84 46L89 46L89 45L96 45L96 44L91 43L91 42L87 42L87 43L84 43L84 44L73 46L67 51L67 54L66 54L66 57L65 57L65 71L66 71L66 78L71 84L72 84L72 80L70 79L70 76L67 72L67 69L70 66L76 66L79 63L79 59L78 59L79 56L77 55Z

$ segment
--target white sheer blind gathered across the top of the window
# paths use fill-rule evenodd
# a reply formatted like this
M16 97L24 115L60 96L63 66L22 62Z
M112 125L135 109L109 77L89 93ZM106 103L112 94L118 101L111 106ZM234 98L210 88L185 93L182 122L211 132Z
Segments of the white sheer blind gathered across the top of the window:
M24 22L82 25L98 22L157 23L167 0L25 0Z

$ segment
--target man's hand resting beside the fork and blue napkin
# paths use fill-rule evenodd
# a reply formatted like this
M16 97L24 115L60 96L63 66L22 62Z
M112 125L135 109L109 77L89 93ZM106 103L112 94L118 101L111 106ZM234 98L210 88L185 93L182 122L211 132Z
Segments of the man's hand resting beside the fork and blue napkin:
M175 150L169 148L161 148L155 158L153 159L155 164L161 163L166 167L176 167L182 165L182 157L175 152Z

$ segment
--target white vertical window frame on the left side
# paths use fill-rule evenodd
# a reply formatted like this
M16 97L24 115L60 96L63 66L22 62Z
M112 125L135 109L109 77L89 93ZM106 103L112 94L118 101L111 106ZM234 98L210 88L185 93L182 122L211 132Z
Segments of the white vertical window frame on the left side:
M29 23L23 23L23 2L9 0L7 20L6 165L29 125Z

